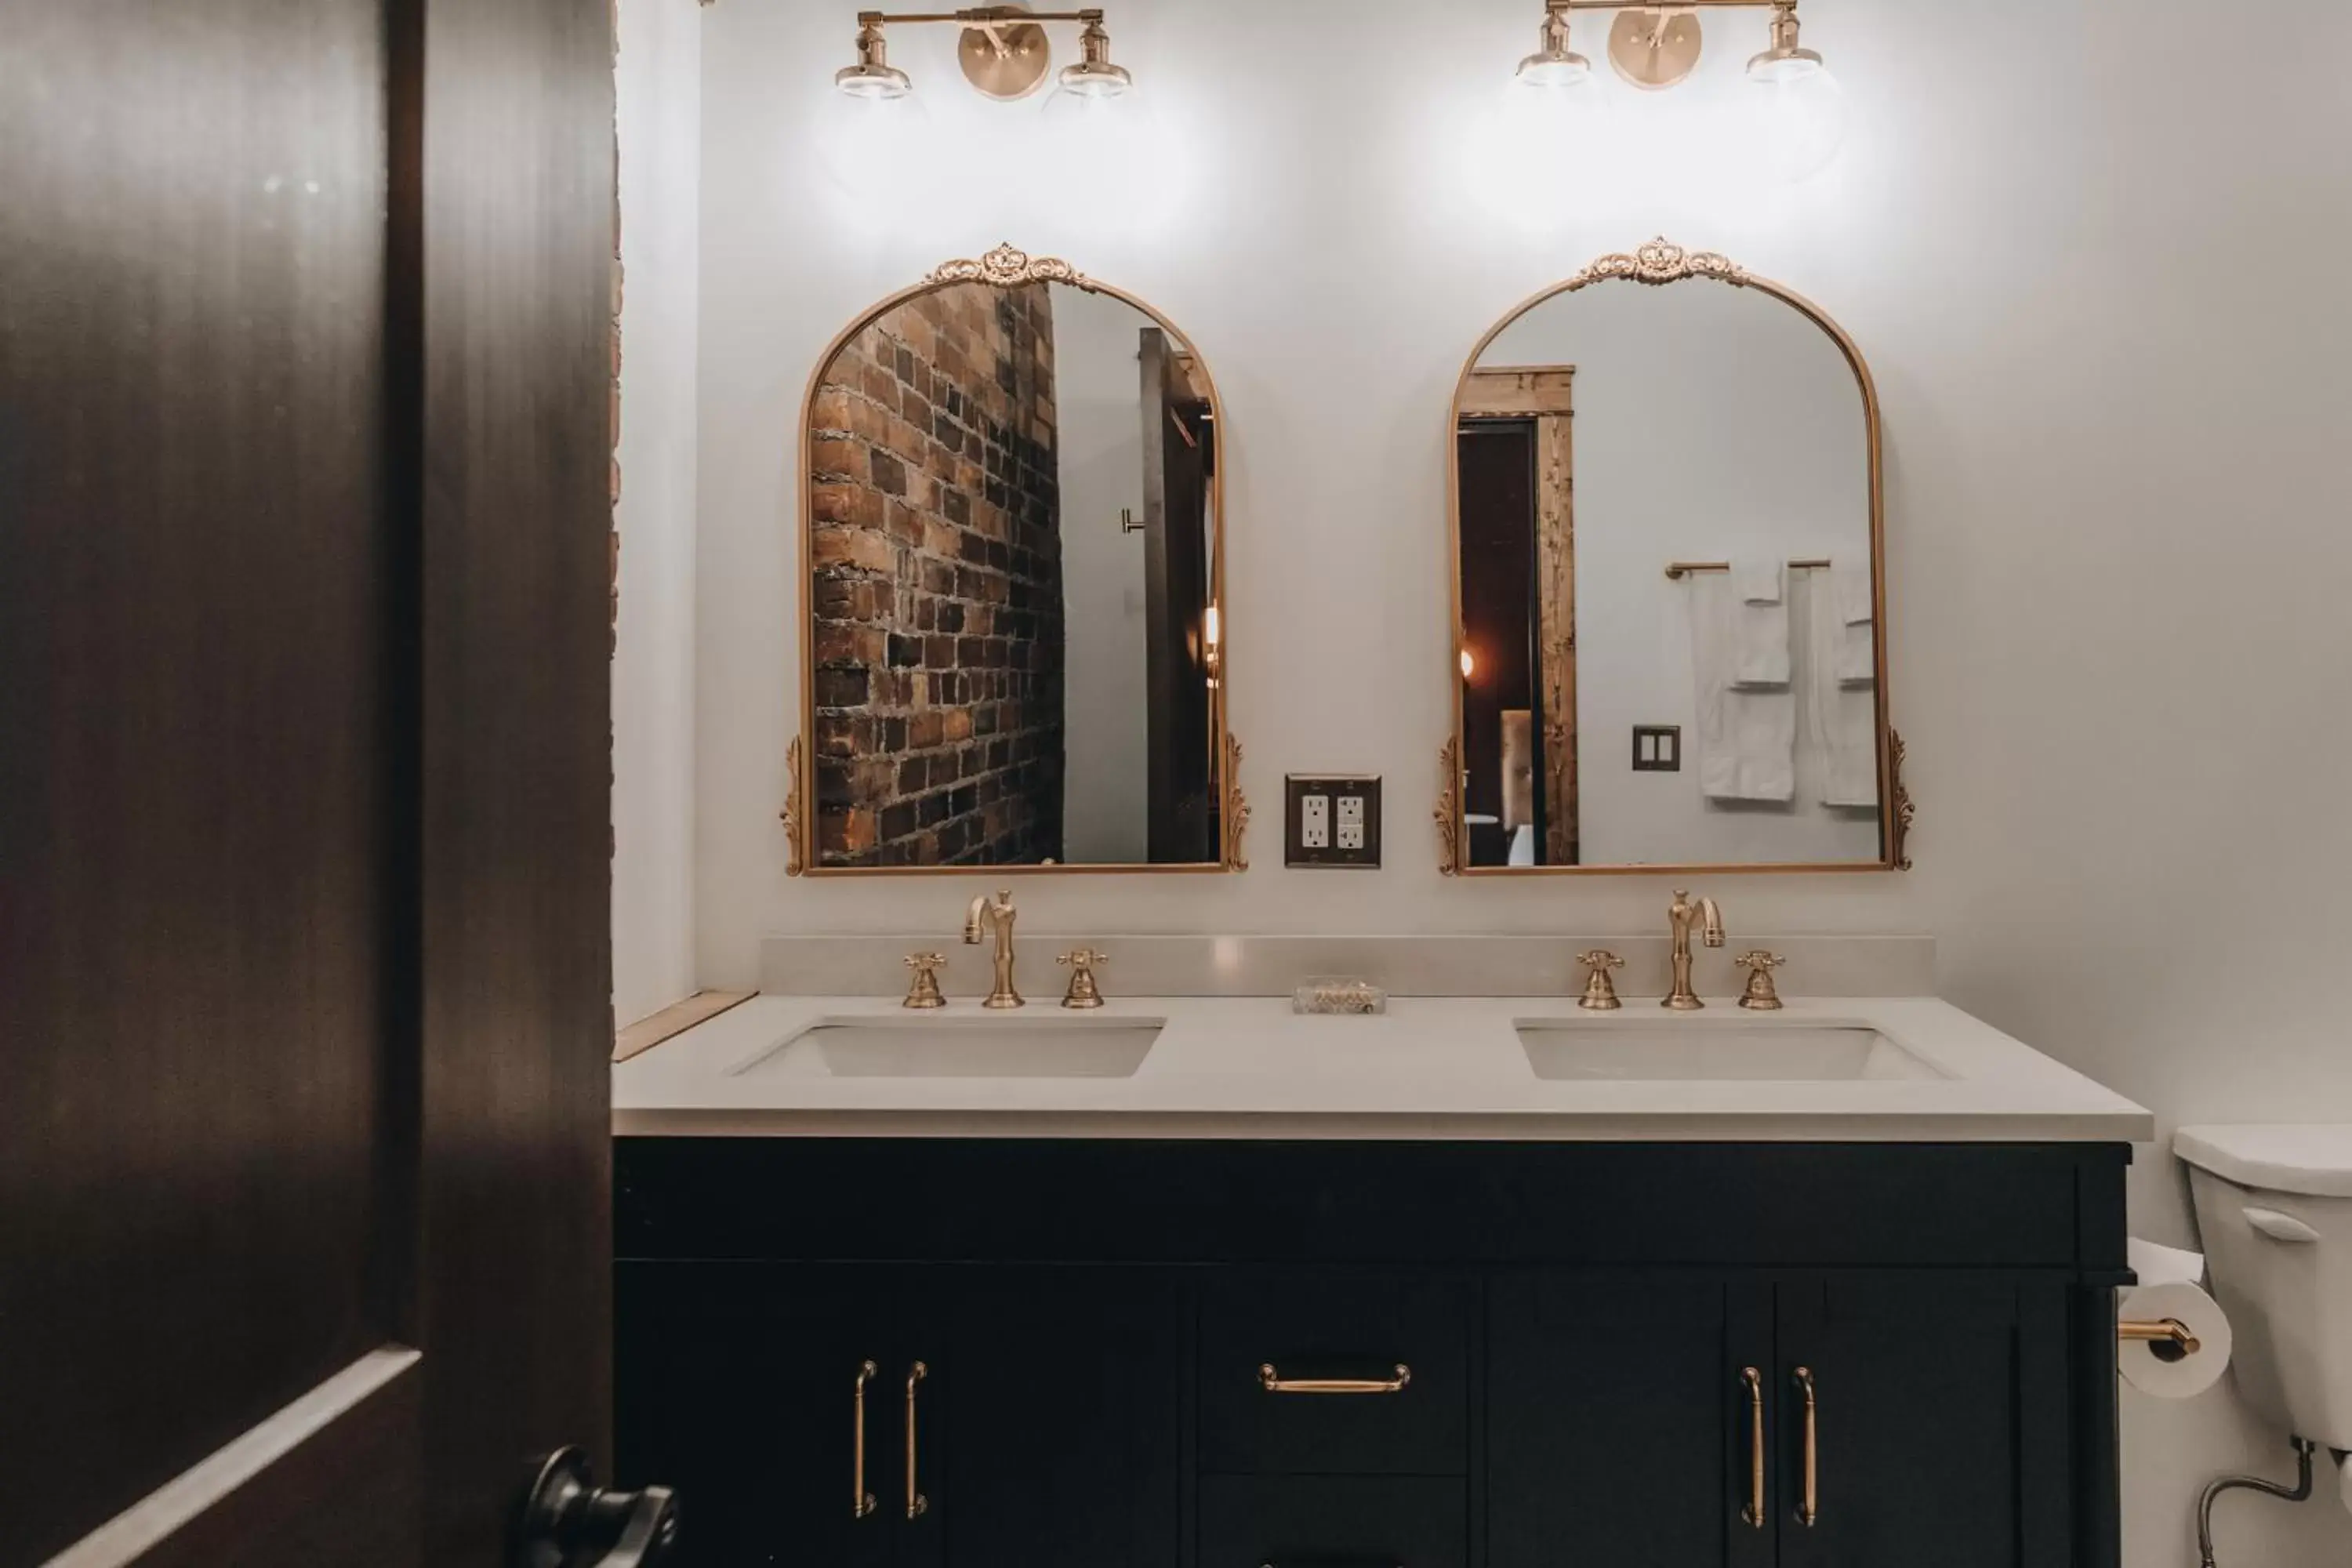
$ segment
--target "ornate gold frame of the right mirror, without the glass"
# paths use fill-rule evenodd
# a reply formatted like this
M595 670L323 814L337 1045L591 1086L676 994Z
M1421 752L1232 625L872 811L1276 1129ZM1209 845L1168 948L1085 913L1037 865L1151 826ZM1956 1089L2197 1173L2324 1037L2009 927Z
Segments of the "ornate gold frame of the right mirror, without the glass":
M1639 287L1668 287L1679 282L1715 282L1733 289L1757 289L1769 294L1780 303L1795 308L1809 322L1820 327L1837 343L1846 364L1853 369L1853 378L1863 393L1863 423L1865 423L1865 447L1870 454L1870 595L1877 616L1877 748L1879 748L1879 858L1877 860L1825 860L1825 863L1750 863L1750 865L1470 865L1470 835L1463 820L1463 686L1454 686L1454 731L1439 748L1439 797L1437 811L1437 839L1439 860L1437 870L1446 877L1529 877L1529 875L1555 875L1555 877L1665 877L1665 875L1719 875L1719 872L1889 872L1910 870L1910 825L1917 816L1912 806L1910 790L1903 788L1903 736L1896 733L1891 722L1891 701L1886 693L1886 501L1884 501L1884 458L1879 454L1879 390L1870 378L1870 364L1863 362L1863 350L1856 348L1846 329L1839 327L1820 306L1797 294L1795 289L1773 282L1771 277L1759 277L1729 256L1717 252L1689 252L1670 240L1651 240L1635 252L1613 252L1602 256L1585 270L1555 282L1548 289L1531 294L1519 301L1512 310L1503 315L1486 336L1477 341L1470 357L1463 360L1463 374L1454 386L1454 404L1446 411L1446 574L1451 581L1449 602L1449 646L1446 661L1461 658L1465 642L1463 632L1463 564L1461 564L1461 444L1456 430L1461 430L1465 400L1472 388L1472 374L1486 348L1503 336L1503 331L1524 317L1536 306L1559 299L1562 294L1576 294L1578 289L1590 289L1597 284L1628 282Z

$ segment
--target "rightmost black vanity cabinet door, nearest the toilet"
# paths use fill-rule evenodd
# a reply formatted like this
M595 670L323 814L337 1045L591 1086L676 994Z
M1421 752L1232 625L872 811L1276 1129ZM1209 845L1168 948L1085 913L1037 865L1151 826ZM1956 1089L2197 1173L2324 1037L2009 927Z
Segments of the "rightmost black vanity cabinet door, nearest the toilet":
M1783 1284L1778 1309L1785 1568L2074 1561L2060 1286L1828 1276Z

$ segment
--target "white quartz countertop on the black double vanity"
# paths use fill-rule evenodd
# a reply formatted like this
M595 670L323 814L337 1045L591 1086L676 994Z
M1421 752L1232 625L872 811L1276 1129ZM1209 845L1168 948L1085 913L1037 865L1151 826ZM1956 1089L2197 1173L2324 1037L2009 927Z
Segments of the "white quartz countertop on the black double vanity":
M1040 1030L1164 1020L1131 1077L830 1077L776 1051L804 1030ZM1856 1027L1943 1077L1545 1079L1517 1025ZM1289 997L1122 997L1073 1013L957 999L915 1013L894 997L755 997L614 1067L621 1135L936 1138L1428 1138L2138 1143L2147 1110L1929 997L1790 997L1780 1013L1710 999L1672 1016L1656 997L1581 1013L1573 997L1395 997L1385 1016L1301 1018Z

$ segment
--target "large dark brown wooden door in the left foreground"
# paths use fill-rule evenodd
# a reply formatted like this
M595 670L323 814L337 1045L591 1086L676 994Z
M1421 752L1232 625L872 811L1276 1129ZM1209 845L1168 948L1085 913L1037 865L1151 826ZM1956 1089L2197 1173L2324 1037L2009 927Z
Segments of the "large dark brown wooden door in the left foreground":
M609 5L0 38L0 1563L487 1568L609 1422Z

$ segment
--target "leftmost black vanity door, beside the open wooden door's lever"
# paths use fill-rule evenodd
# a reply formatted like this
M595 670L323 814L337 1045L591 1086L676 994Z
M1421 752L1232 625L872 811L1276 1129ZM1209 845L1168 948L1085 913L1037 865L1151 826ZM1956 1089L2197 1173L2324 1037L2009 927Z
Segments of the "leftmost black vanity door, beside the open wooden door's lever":
M684 1568L889 1556L882 1305L866 1269L619 1265L619 1483L677 1488ZM858 1516L854 1420L868 1359L866 1490L877 1502Z

